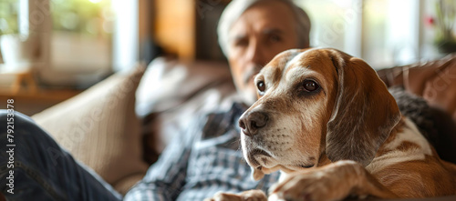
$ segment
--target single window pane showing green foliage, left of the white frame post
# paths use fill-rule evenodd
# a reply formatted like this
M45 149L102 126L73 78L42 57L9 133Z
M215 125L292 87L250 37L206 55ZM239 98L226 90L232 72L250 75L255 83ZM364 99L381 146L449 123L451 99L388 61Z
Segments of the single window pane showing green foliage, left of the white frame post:
M51 0L51 63L57 69L109 72L114 14L109 0Z

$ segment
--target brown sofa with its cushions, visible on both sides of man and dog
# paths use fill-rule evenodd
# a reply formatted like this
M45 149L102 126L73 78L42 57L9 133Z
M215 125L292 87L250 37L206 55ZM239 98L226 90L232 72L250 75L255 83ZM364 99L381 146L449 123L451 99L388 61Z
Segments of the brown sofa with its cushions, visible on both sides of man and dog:
M456 55L378 71L388 86L424 98L435 111L430 127L456 121ZM211 110L235 95L228 65L182 63L160 57L119 72L35 116L39 126L75 158L125 194L196 111ZM436 120L440 118L440 120ZM444 120L446 122L444 122ZM444 123L444 124L443 124ZM438 151L454 159L456 133L438 130ZM442 139L439 140L440 132ZM456 161L456 160L454 160Z

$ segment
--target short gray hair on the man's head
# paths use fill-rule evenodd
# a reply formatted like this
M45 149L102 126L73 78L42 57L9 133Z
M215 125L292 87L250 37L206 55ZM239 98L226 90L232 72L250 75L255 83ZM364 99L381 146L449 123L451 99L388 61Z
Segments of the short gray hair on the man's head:
M255 5L258 2L266 0L233 0L223 10L223 14L220 17L219 25L217 27L217 35L219 39L219 45L222 48L223 55L228 56L228 45L230 43L229 32L233 23L244 14L244 12ZM271 0L269 0L271 1ZM298 35L298 46L306 47L309 45L309 32L310 32L310 19L306 12L295 5L292 0L275 0L285 3L288 5L293 14L295 15L296 32Z

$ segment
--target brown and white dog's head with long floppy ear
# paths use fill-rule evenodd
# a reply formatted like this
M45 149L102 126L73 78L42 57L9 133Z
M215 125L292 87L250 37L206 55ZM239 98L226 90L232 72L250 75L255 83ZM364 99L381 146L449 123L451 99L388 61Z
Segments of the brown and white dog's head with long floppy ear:
M396 101L363 60L335 49L288 50L255 76L258 101L239 120L254 179L331 161L367 166L400 119Z

